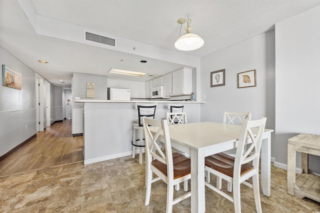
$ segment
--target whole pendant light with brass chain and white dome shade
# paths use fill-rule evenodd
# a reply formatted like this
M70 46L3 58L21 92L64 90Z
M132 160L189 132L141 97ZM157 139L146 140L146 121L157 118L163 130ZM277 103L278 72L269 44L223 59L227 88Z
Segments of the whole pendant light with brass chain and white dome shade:
M182 28L182 24L185 22L184 18L179 18L178 23L181 24L180 26L180 32ZM185 27L185 34L180 36L179 32L179 38L174 42L174 47L177 48L178 50L182 51L190 51L190 50L195 50L203 46L204 40L196 35L191 33L191 19L188 17L188 20L186 21L186 27Z

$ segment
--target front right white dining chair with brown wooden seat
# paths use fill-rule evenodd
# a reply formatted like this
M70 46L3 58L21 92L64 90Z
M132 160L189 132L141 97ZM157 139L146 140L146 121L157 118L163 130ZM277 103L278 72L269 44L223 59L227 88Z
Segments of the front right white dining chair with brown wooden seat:
M233 185L233 198L205 182L205 186L234 203L234 212L241 213L240 184L253 188L256 212L262 213L259 193L259 155L266 118L244 120L236 148L235 158L218 153L205 158L205 171ZM249 140L245 150L245 144ZM243 152L245 150L245 152ZM252 184L246 182L252 177Z

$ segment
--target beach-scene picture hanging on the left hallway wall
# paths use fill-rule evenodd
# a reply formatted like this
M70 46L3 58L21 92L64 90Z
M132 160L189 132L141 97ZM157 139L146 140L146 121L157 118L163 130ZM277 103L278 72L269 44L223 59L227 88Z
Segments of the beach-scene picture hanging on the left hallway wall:
M8 66L2 64L2 86L21 90L21 73L16 72Z

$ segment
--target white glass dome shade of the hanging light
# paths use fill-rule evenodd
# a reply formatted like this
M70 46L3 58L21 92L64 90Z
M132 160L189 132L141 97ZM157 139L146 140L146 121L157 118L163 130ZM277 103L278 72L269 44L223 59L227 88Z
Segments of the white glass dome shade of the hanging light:
M193 33L187 33L174 42L174 47L182 51L195 50L203 46L204 40Z

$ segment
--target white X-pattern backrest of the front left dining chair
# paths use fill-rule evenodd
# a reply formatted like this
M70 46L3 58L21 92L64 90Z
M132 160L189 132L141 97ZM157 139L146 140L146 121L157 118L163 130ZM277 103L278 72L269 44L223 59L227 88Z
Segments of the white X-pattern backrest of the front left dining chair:
M146 148L146 167L150 166L152 160L158 160L167 165L167 178L173 179L172 149L166 120L149 119L146 117L143 117L142 120ZM152 134L150 128L154 128L156 133ZM161 142L164 143L165 152L156 143L161 133L163 134Z

